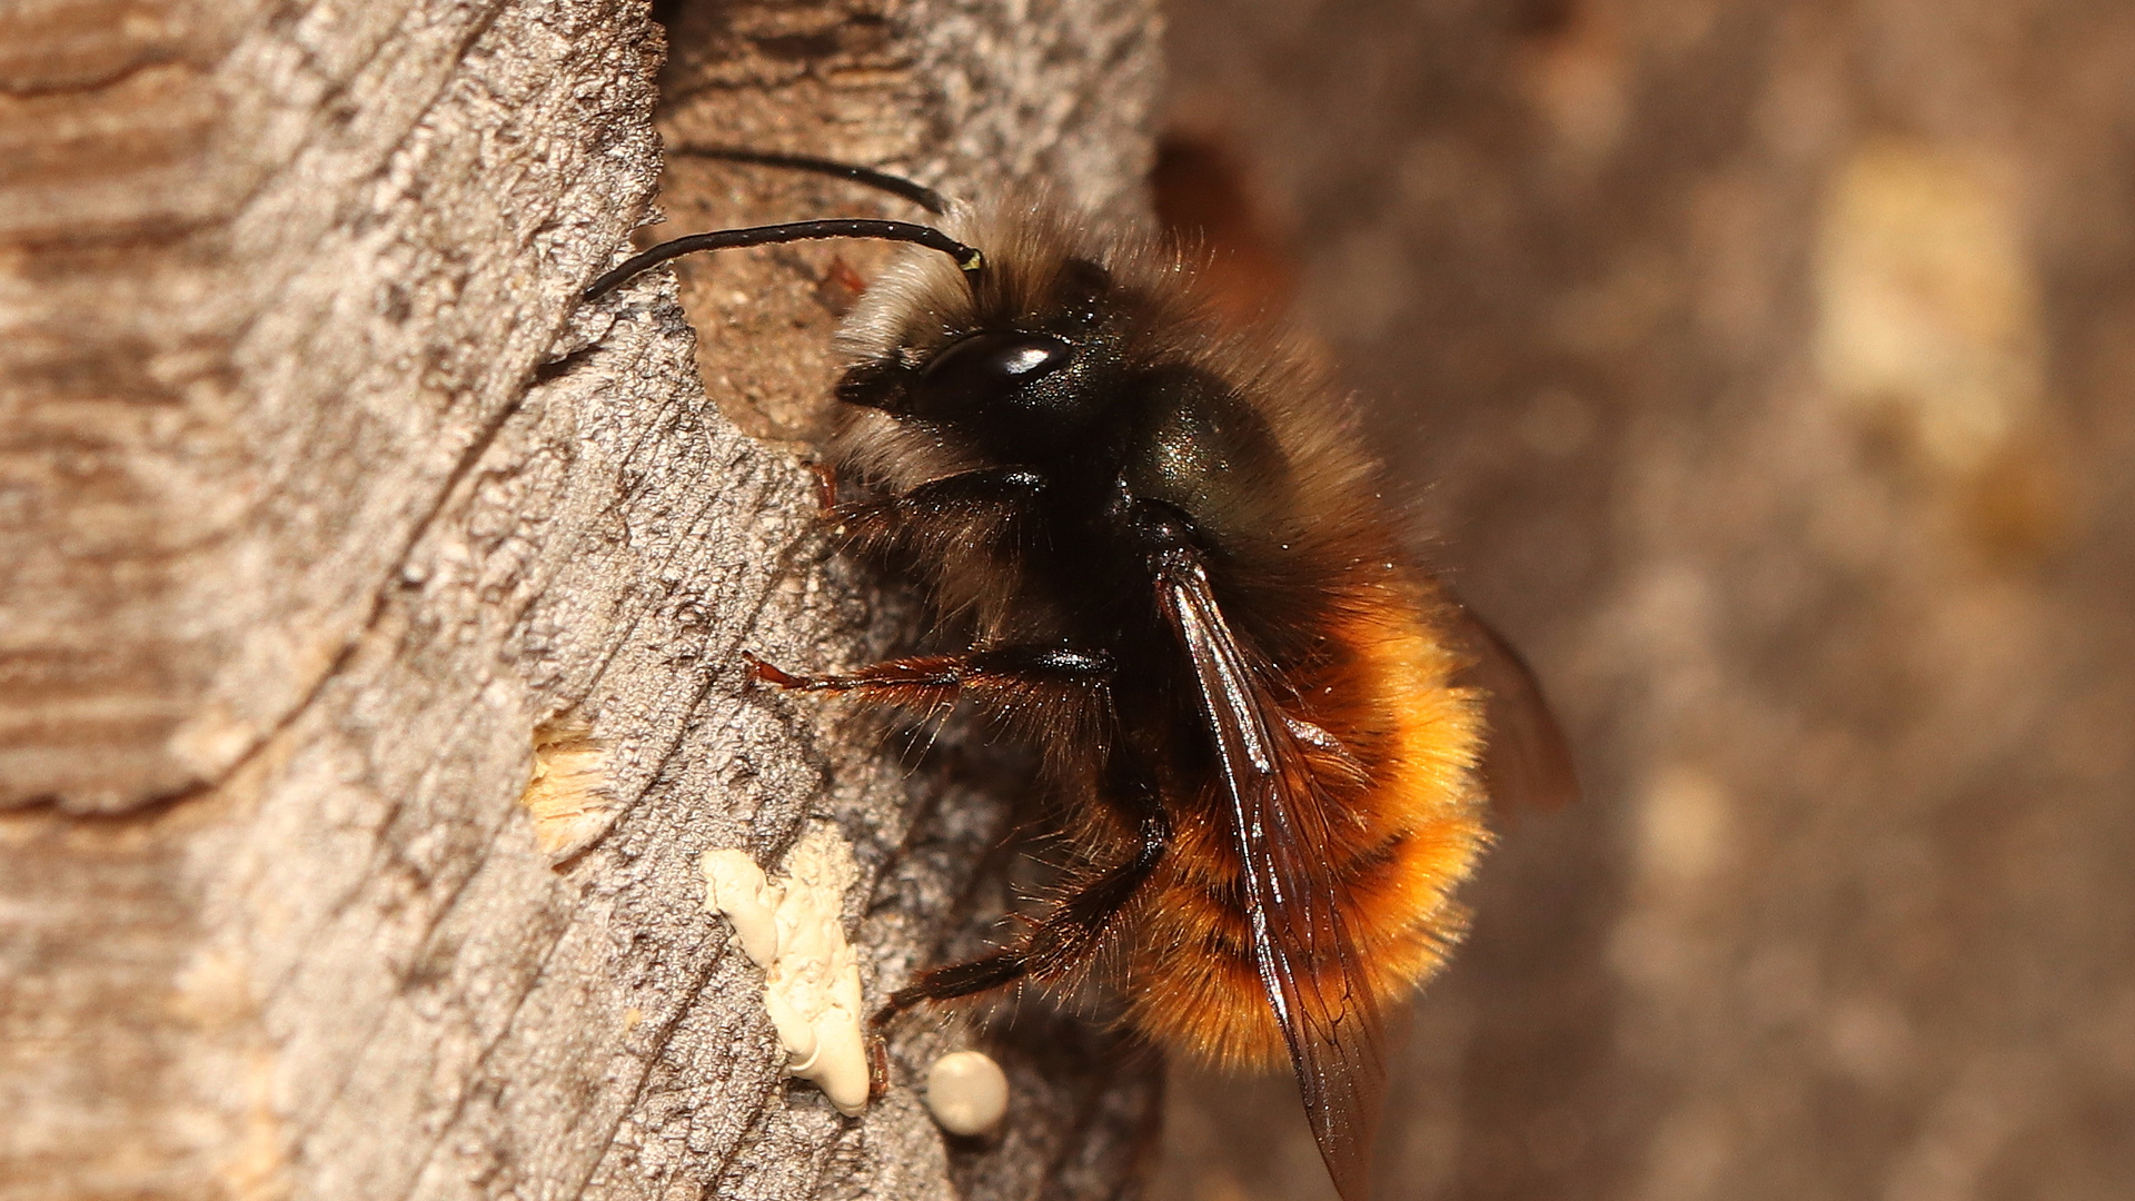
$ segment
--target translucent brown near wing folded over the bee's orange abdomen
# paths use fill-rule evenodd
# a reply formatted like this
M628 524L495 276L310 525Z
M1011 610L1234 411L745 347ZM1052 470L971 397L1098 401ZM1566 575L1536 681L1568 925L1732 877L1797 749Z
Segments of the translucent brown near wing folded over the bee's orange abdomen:
M1360 949L1330 878L1328 804L1200 564L1166 571L1157 588L1193 662L1215 735L1232 838L1245 865L1260 985L1290 1043L1319 1158L1345 1201L1364 1201L1386 1098L1386 1056Z

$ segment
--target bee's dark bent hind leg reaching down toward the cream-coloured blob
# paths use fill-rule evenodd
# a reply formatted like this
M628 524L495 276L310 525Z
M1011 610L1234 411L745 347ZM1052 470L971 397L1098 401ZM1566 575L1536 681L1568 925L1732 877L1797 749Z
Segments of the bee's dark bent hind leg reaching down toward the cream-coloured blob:
M873 1024L884 1026L905 1009L924 1000L956 1000L1016 983L1023 977L1057 979L1089 962L1104 947L1119 917L1134 902L1149 874L1157 870L1172 840L1172 818L1157 801L1155 789L1136 786L1123 806L1140 823L1142 844L1134 859L1106 868L1095 878L1068 893L1010 951L920 972L916 981L890 994Z

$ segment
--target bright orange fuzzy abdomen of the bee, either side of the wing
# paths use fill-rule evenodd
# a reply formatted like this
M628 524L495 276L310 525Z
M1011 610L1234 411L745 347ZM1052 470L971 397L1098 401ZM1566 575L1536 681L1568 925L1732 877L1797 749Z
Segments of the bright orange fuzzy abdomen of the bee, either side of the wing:
M1360 951L1356 970L1386 1004L1428 979L1465 930L1452 893L1488 842L1475 784L1482 707L1452 684L1460 660L1420 605L1347 620L1334 641L1337 662L1294 680L1311 712L1292 716L1332 733L1356 765L1317 771L1330 821L1319 831L1326 844L1307 855L1328 865L1324 878ZM1129 1024L1223 1064L1283 1060L1215 782L1202 804L1181 806L1174 825L1127 955Z

